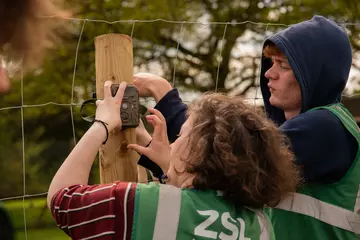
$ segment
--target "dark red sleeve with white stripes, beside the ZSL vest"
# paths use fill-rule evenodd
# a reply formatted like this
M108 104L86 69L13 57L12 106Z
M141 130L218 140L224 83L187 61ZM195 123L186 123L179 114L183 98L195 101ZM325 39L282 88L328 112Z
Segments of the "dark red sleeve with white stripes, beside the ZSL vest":
M74 185L54 195L51 213L72 239L130 240L135 192L135 183Z

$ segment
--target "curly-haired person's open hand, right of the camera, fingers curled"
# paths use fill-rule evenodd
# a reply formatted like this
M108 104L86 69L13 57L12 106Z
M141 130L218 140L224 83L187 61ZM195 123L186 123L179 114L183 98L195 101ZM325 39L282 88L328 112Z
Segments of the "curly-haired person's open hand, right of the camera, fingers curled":
M128 148L147 156L156 163L164 173L170 165L170 143L167 136L166 120L156 109L149 109L153 115L147 115L147 121L154 127L153 138L149 147L129 144Z

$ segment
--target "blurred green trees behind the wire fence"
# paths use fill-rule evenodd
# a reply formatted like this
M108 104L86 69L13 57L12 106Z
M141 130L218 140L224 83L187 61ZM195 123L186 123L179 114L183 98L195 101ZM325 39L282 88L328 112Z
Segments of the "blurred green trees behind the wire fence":
M358 23L358 0L73 2L75 17L88 20L59 19L72 25L72 32L49 52L41 68L24 77L23 90L18 79L12 91L0 97L0 108L40 105L26 107L23 112L20 108L0 111L0 198L22 195L23 177L26 194L46 191L51 177L74 146L72 119L77 140L88 128L80 117L79 104L95 91L96 36L131 35L134 72L159 73L182 92L216 88L248 96L253 96L258 84L264 38L286 25L314 14L324 15L346 27L354 59L360 51L359 25L345 24ZM214 24L206 24L209 22ZM359 67L354 61L354 68ZM42 105L49 102L64 106ZM75 104L72 114L70 103ZM98 182L97 171L95 166L94 182Z

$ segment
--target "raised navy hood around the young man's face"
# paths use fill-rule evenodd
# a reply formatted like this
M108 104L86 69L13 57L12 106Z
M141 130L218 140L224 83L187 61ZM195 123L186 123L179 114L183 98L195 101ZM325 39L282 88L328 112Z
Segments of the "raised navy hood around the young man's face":
M267 38L263 48L271 42L288 58L299 83L301 113L340 102L352 63L351 45L344 29L329 19L314 16ZM260 88L265 111L269 118L281 125L286 120L284 112L269 102L265 72L271 66L271 59L262 56Z

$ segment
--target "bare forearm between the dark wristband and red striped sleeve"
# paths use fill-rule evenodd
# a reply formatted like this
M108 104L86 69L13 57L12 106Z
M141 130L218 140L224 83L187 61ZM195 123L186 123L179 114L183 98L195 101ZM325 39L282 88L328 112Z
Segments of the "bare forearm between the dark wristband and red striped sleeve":
M60 189L74 184L88 183L92 164L105 138L106 131L100 123L93 124L85 133L50 184L47 196L49 207L52 197Z

